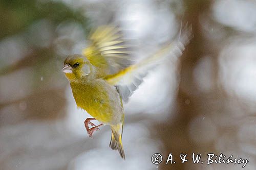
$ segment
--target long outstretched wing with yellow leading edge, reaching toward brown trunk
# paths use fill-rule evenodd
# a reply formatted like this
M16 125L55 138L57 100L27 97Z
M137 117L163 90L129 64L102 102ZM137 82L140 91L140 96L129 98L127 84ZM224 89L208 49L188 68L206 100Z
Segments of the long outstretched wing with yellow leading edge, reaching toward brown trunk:
M175 41L167 44L155 55L148 57L141 62L131 65L114 75L110 75L105 80L117 87L121 98L127 100L139 85L143 82L143 78L148 71L162 63L168 57L179 57L185 49L185 45L192 38L191 26L185 27Z

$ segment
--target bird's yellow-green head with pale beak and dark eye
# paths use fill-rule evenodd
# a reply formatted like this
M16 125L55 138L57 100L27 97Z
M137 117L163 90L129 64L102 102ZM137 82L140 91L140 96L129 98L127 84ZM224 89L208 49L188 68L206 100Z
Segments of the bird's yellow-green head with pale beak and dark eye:
M82 55L72 55L66 58L61 71L65 72L69 81L79 81L92 74L92 64Z

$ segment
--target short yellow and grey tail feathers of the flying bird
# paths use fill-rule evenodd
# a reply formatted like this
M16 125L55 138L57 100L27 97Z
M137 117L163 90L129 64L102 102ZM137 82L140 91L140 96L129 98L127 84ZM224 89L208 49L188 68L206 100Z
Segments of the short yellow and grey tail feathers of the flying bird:
M112 135L110 141L110 148L113 150L118 150L120 156L125 160L125 155L123 151L122 144L122 133L123 133L123 125L111 125Z

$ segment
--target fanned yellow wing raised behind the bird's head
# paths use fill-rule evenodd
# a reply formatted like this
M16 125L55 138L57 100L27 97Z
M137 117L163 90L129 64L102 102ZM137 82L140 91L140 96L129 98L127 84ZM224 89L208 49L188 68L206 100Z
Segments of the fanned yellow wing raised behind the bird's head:
M91 44L83 50L88 60L103 71L114 74L133 63L130 46L121 30L114 26L101 26L90 35Z

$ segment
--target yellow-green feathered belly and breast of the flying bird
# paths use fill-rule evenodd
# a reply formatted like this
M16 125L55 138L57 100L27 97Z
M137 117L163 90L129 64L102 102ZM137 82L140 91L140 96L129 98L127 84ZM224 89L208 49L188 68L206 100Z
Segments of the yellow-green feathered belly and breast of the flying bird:
M123 121L123 107L115 87L96 85L72 91L77 106L99 122L113 125Z

